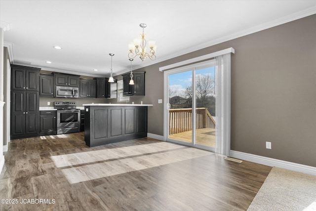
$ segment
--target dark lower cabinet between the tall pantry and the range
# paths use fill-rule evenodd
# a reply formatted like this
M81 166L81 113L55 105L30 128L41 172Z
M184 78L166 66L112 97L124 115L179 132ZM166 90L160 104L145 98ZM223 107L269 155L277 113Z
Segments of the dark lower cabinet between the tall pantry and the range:
M40 111L40 135L56 135L56 110Z

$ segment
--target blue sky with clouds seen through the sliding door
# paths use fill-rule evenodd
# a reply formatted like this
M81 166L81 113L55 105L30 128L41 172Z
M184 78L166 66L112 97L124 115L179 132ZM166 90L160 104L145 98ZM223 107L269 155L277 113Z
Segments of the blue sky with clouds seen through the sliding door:
M196 70L196 75L211 75L215 77L214 66ZM169 75L169 87L175 90L174 96L182 96L185 88L192 84L192 71L185 71Z

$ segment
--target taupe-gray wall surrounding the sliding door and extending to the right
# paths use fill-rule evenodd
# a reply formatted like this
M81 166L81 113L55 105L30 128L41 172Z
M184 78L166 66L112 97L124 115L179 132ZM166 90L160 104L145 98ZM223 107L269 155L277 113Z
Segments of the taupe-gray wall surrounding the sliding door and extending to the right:
M233 47L231 149L316 167L315 26L312 15L141 68L146 96L131 99L154 104L148 132L163 135L158 68Z

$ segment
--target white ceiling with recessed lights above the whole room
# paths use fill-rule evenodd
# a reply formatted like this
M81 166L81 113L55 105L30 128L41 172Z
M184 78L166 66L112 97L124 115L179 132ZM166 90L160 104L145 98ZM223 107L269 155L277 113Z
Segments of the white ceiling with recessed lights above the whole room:
M135 58L133 69L315 13L316 0L0 0L13 63L96 77L109 76L109 53L114 75L130 70L140 23L157 59Z

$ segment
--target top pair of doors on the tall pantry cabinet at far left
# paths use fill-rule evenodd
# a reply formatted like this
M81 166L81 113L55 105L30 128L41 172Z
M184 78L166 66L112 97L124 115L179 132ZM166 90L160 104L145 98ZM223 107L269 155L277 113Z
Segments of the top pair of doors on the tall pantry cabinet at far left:
M39 91L40 68L11 65L11 89Z

